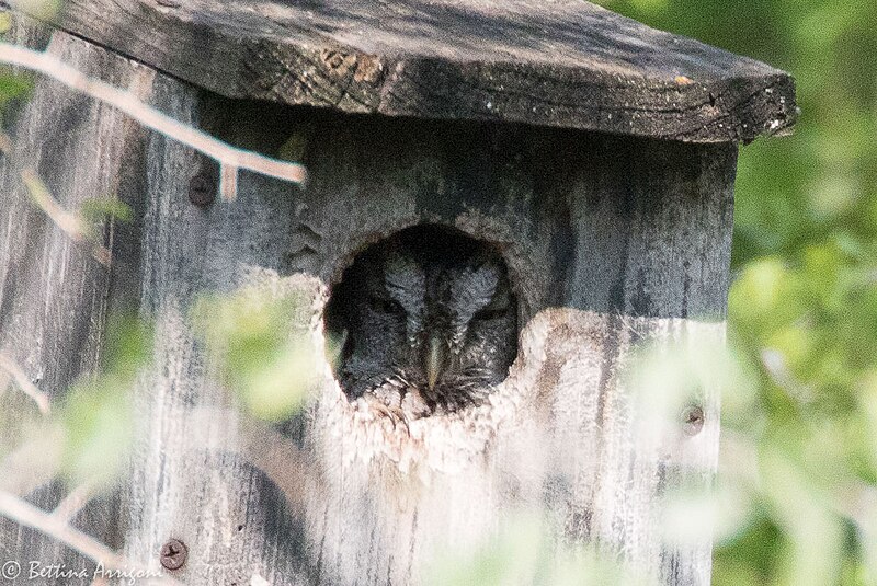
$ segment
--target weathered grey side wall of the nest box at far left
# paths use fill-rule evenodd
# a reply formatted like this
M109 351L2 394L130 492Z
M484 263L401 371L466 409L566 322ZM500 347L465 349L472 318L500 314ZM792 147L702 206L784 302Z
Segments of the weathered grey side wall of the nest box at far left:
M155 72L67 34L18 24L14 41L47 50L92 76L143 94ZM23 168L38 171L66 209L86 199L118 194L129 197L143 174L143 133L119 113L70 92L50 80L36 80L33 99L16 116L12 133L15 150L0 160L0 352L48 393L57 404L80 375L95 368L101 355L104 320L113 276L88 245L77 244L31 202L22 183ZM114 227L104 234L113 241ZM30 400L3 397L5 409L18 416L35 415ZM0 433L21 433L18 425ZM18 437L21 439L21 437ZM43 456L35 453L34 456ZM4 462L8 464L9 462ZM42 473L35 464L35 472ZM52 509L65 496L60 482L36 473L24 484L3 478L4 490L22 492L29 501ZM73 525L119 547L117 501L99 498L84 507ZM0 520L0 551L4 560L27 563L67 563L70 568L93 567L45 536ZM67 584L64 578L47 583ZM70 581L72 582L72 581ZM82 581L88 584L90 581Z

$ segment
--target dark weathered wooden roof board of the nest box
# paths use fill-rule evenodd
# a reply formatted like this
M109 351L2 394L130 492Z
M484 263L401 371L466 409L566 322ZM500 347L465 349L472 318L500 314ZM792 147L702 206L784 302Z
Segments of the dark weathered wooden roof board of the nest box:
M791 78L580 0L70 0L58 25L231 97L748 142Z

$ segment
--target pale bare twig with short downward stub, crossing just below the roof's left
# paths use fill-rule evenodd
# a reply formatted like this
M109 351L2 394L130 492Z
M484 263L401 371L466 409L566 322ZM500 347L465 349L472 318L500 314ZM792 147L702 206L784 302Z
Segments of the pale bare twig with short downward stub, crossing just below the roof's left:
M9 43L0 43L0 61L48 76L69 88L121 110L144 126L213 158L221 169L225 187L223 197L226 199L234 199L236 195L235 183L238 169L248 169L293 183L303 183L307 176L304 165L278 161L227 145L145 104L130 92L89 78L48 53L35 51Z

